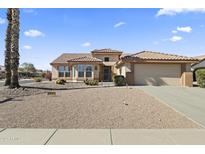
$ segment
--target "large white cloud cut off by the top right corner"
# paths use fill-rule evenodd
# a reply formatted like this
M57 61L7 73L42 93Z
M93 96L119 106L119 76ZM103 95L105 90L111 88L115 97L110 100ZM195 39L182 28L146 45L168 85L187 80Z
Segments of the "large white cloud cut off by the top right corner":
M164 8L160 9L156 16L162 16L162 15L167 15L167 16L174 16L177 14L182 14L182 13L205 13L205 8Z

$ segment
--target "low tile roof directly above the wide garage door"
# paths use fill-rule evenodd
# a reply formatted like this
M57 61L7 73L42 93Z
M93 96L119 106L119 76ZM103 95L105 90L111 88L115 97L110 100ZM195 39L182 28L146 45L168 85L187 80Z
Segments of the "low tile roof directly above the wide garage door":
M174 54L166 54L153 51L142 51L136 54L122 57L122 59L139 59L139 60L179 60L179 61L198 61L197 58L179 56Z

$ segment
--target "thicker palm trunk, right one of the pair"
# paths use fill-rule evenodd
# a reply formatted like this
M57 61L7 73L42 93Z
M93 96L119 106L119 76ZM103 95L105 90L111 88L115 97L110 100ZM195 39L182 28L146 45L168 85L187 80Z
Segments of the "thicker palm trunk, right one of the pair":
M19 88L18 67L19 67L19 9L12 9L12 30L11 30L11 84L10 88Z

